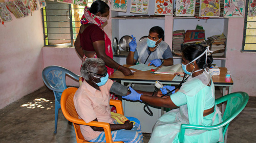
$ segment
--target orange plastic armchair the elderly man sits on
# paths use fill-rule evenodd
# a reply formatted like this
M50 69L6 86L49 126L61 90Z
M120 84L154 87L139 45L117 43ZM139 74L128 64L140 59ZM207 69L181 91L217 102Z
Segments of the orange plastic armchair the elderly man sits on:
M66 90L63 91L61 95L61 100L60 100L60 106L61 106L63 115L67 120L72 122L74 125L74 129L76 133L76 142L89 142L83 138L79 125L102 127L105 132L106 142L114 142L112 139L109 123L96 122L96 121L86 123L82 119L78 118L75 105L74 105L74 100L73 100L76 91L77 91L77 88L67 88ZM120 113L123 115L122 101L110 99L110 105L114 105L117 109L117 113ZM115 141L115 143L123 143L123 141Z

